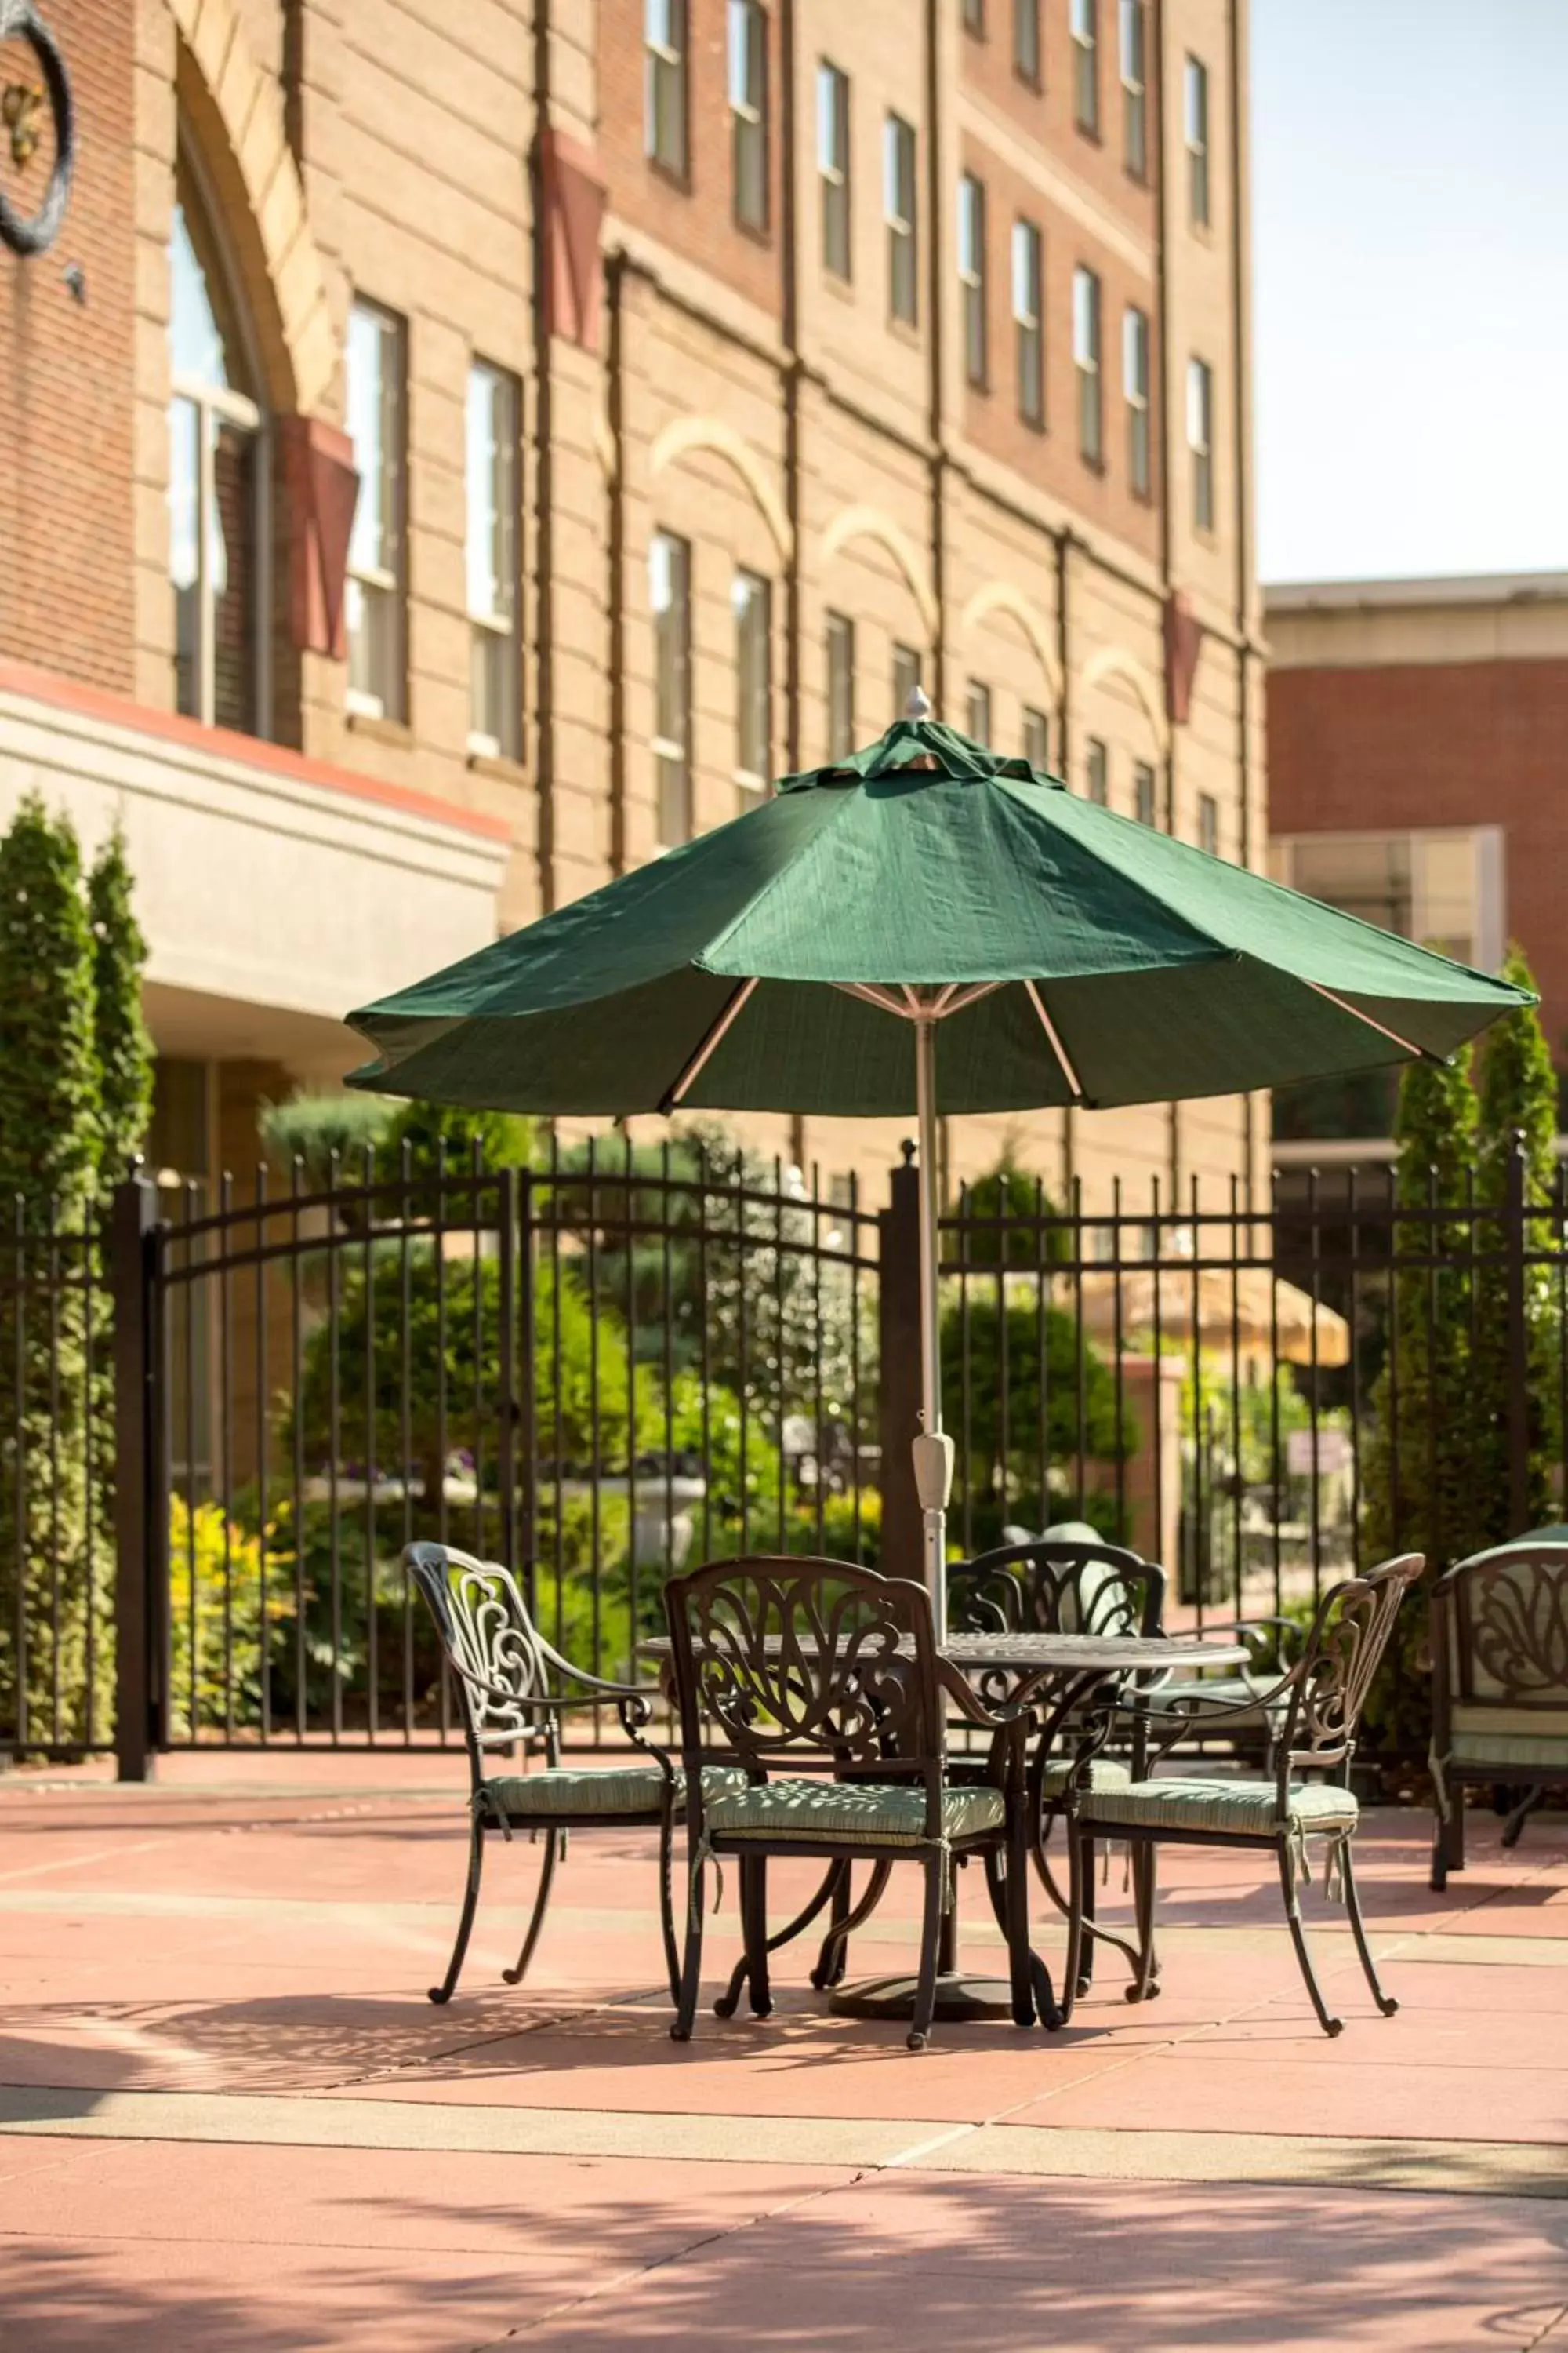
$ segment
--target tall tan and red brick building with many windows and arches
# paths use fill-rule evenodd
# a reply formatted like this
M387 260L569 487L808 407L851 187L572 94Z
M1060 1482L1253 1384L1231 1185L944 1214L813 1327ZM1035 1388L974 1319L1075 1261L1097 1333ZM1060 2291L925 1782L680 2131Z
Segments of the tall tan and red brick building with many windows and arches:
M174 1158L249 1158L348 1005L914 678L1262 859L1244 19L54 0L75 186L0 249L0 809L122 819ZM21 209L49 155L0 155ZM1262 1160L1244 1101L1016 1141L1091 1193Z

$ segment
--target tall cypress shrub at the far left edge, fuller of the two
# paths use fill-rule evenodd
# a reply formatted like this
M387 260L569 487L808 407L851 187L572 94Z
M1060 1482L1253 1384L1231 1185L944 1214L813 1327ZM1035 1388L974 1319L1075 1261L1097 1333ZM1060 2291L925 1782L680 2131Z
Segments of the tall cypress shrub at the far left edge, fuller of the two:
M35 1744L103 1737L110 1722L101 1497L113 1435L94 1412L101 1381L80 1280L92 1245L66 1240L85 1233L99 1155L82 861L68 821L31 798L0 838L0 1353L14 1367L0 1464L0 1722L26 1725Z

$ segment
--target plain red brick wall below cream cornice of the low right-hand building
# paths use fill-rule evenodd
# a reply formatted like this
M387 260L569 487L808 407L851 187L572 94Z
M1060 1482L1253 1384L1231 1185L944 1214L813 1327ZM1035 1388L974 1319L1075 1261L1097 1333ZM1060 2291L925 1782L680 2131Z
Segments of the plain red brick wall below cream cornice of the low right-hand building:
M1505 913L1568 1066L1568 661L1272 671L1269 828L1502 826Z

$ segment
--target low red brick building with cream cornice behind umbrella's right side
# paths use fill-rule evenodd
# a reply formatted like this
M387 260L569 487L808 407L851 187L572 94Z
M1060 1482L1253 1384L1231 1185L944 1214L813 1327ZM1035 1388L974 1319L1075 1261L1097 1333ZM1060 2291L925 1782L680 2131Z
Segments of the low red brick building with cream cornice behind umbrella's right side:
M1495 969L1516 939L1568 1066L1568 574L1269 588L1284 882ZM1276 1158L1389 1134L1394 1078L1274 1099Z

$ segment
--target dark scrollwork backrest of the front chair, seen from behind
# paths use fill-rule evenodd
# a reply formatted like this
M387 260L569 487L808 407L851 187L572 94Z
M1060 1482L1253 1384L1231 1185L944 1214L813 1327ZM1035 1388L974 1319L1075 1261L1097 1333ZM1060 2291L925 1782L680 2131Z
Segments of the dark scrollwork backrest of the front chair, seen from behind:
M689 1769L719 1739L755 1777L940 1772L943 1711L924 1586L842 1560L722 1560L672 1577L675 1697Z

